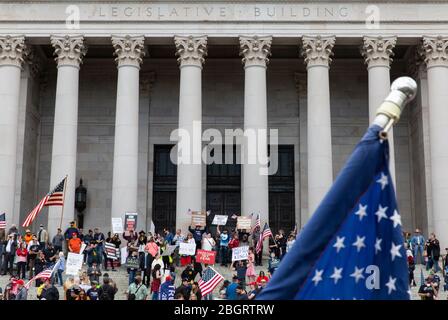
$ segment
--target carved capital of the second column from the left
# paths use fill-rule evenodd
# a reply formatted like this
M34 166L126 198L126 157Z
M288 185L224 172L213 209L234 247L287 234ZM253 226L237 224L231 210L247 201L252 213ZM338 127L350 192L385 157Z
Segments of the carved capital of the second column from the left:
M83 36L51 36L51 45L54 48L54 59L61 66L79 68L82 59L87 53Z

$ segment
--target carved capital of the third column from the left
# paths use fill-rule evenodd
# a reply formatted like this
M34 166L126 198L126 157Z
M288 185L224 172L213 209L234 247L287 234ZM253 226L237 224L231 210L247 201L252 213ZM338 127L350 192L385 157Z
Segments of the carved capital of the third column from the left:
M112 45L115 49L114 54L117 56L115 62L118 67L134 66L140 68L143 62L144 51L144 36L112 36Z

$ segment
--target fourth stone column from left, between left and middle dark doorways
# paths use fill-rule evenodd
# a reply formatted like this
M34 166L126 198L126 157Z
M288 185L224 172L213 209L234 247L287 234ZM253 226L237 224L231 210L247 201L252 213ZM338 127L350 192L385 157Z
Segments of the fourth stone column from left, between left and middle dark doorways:
M189 143L185 143L186 148L178 149L177 157L176 227L185 231L191 223L188 209L205 209L202 208L201 136L202 64L207 55L207 37L175 36L174 43L180 68L179 130L182 136L183 133L189 136Z

